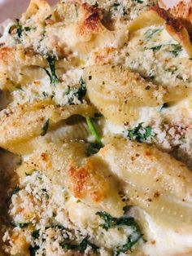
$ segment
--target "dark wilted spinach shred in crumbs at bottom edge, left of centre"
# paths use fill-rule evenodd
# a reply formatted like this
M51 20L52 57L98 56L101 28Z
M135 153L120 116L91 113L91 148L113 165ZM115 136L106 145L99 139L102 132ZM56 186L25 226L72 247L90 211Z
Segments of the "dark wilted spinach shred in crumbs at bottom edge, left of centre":
M94 250L98 249L97 245L92 244L91 242L89 242L88 237L85 237L81 243L79 245L74 245L72 243L62 243L61 247L63 249L74 249L74 250L78 250L81 253L85 251L85 249L87 249L87 247L91 247Z

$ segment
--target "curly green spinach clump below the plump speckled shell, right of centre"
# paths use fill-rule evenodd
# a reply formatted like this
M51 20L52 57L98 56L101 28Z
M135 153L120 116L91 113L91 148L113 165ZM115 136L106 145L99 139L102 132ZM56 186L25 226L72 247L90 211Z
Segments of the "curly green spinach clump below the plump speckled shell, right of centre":
M131 140L136 139L137 142L142 142L152 136L152 128L151 126L143 127L142 123L139 123L133 130L128 130L127 136Z

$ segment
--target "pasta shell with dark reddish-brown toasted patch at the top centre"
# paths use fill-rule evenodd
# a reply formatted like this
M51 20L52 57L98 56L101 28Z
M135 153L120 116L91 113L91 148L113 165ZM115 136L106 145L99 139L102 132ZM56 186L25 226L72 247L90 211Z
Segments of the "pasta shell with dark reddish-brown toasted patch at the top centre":
M48 35L59 33L59 46L68 46L80 54L89 54L96 47L122 46L128 39L127 28L116 31L107 29L102 23L101 11L88 3L60 3L55 15L63 25L48 26ZM69 35L71 40L68 40Z

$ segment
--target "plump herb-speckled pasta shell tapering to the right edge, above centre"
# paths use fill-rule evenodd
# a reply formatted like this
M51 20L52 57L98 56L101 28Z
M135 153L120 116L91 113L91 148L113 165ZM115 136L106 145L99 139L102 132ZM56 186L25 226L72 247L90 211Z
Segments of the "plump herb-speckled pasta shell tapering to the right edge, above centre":
M182 84L170 88L155 85L121 66L89 66L84 76L90 101L115 123L137 119L141 107L158 107L192 92L190 86Z

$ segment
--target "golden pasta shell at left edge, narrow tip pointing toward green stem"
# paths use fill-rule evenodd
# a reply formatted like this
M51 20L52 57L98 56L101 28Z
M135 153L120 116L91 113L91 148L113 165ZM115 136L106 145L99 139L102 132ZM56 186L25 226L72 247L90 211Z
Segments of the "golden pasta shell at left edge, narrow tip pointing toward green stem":
M43 127L46 122L48 122L46 129L52 130L59 121L72 115L80 114L86 117L92 116L93 113L94 108L88 105L56 107L51 100L7 109L0 118L0 146L19 154L31 152L31 147L34 146L31 144L31 139L45 131Z

